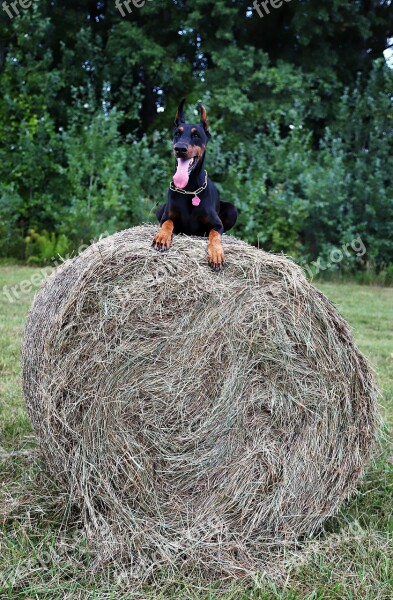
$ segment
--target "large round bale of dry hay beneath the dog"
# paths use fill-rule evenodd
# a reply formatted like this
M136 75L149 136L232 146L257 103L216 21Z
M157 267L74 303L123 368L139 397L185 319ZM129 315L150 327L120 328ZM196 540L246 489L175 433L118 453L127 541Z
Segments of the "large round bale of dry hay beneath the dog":
M284 256L141 226L66 262L23 344L27 407L102 561L250 573L354 490L378 415L334 305Z

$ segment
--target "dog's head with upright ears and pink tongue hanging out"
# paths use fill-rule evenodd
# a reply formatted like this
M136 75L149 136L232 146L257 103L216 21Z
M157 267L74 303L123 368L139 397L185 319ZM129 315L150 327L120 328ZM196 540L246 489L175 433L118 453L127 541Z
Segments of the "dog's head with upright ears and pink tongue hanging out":
M186 123L184 103L185 98L177 109L173 135L173 153L176 158L173 182L181 189L186 187L191 173L202 168L207 142L211 137L205 107L202 104L199 107L201 115L199 123Z

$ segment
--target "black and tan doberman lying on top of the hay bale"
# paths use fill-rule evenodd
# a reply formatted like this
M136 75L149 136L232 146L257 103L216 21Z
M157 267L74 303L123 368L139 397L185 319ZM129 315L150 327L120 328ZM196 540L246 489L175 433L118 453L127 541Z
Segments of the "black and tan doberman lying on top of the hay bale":
M157 211L161 229L152 245L159 252L166 252L174 233L208 235L209 266L221 271L224 266L221 235L236 223L237 209L230 202L220 200L217 188L204 169L206 146L211 138L206 109L200 105L199 123L186 123L184 103L185 98L175 118L176 173L170 183L168 201Z

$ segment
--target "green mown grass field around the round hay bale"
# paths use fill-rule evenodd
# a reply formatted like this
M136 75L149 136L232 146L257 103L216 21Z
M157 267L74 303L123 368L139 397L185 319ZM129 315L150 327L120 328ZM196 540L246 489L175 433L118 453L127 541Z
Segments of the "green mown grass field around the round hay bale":
M288 577L276 585L261 578L252 587L215 586L162 577L141 595L127 592L129 574L96 573L78 527L78 514L46 474L23 405L19 346L40 271L0 266L0 598L201 598L259 600L387 600L393 595L393 453L388 439L358 493L324 531L286 557ZM26 281L23 291L20 283ZM8 293L4 286L14 287ZM393 289L318 284L352 326L374 366L387 423L393 417ZM387 438L387 436L386 436ZM68 526L64 527L65 515Z

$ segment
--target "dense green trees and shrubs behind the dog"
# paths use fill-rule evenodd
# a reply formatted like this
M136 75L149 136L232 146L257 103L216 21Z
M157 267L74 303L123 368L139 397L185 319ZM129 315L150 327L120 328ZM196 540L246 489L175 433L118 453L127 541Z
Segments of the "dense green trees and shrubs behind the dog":
M187 97L236 235L393 280L390 0L40 0L0 15L0 256L44 262L155 220ZM0 9L1 11L1 9ZM361 262L360 262L361 261Z

